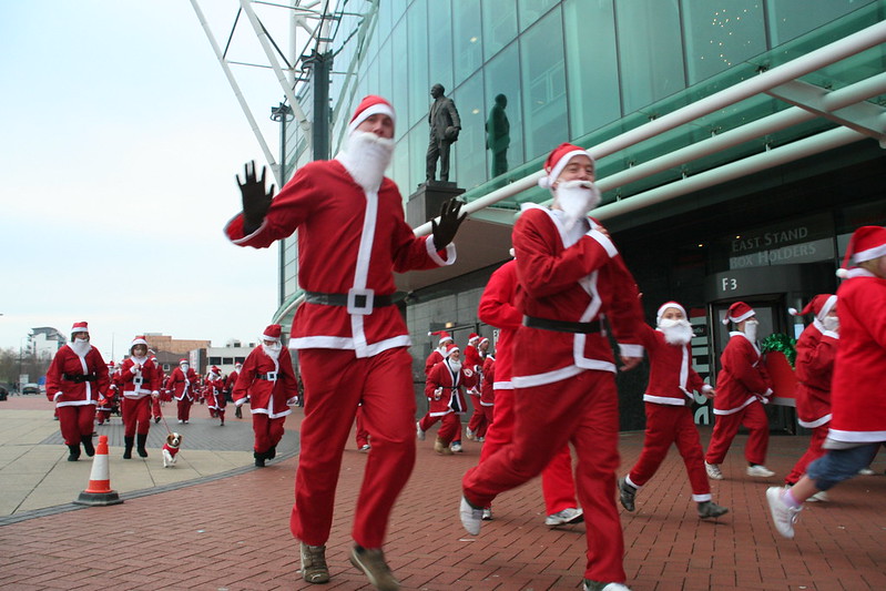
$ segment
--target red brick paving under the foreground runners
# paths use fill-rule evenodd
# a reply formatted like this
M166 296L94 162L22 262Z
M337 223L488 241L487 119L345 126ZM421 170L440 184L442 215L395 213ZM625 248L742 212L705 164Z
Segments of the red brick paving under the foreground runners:
M301 415L288 426L297 428ZM706 444L710 432L703 432ZM538 481L502 495L495 520L479 537L461 529L460 477L479 456L439 457L432 437L418 444L418 461L390 524L385 548L404 589L577 589L584 568L584 526L543 526ZM694 514L682 460L672 449L638 495L638 511L622 512L628 582L634 591L886 589L886 478L859 477L808 506L795 540L780 538L764 491L780 478L743 475L740 436L713 482L714 499L731 512L717 522ZM807 442L773 437L768 466L780 477ZM637 459L642 434L620 439L622 470ZM356 491L367 456L348 441L327 557L329 584L305 583L288 531L297 458L240 476L86 508L0 528L0 588L42 589L368 589L347 561Z

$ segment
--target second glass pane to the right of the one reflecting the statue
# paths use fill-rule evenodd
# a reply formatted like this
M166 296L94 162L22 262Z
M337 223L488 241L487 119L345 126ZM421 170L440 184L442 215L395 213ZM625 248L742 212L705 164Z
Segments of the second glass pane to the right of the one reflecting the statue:
M621 116L612 2L567 0L563 21L570 135L578 137Z

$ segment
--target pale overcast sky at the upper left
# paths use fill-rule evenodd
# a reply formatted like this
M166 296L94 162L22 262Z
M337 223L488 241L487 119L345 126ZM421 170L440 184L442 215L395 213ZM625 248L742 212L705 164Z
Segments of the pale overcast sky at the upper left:
M201 7L224 44L237 3ZM283 93L256 72L245 90L277 153ZM222 228L234 175L264 161L191 3L3 2L0 80L0 347L78 320L116 358L146 332L254 342L278 248Z

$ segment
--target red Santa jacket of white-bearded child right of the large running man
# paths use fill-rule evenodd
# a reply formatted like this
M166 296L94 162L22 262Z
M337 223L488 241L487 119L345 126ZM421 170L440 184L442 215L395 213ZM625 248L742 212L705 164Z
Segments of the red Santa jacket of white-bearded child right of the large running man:
M644 326L642 343L649 353L649 385L643 400L659 405L685 406L692 401L693 391L710 390L704 380L692 368L692 347L671 345L664 333Z

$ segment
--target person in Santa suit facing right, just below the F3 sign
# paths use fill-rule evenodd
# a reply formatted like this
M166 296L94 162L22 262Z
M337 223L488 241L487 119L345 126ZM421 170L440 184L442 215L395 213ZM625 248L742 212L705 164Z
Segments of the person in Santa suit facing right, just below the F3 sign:
M723 480L720 465L742 425L750 431L744 448L747 476L775 476L763 465L770 444L770 419L763 405L770 401L772 383L761 363L756 338L760 322L755 315L751 306L736 302L723 318L723 324L733 323L735 330L730 333L730 340L720 356L721 370L714 398L716 421L704 457L707 476L714 480Z

